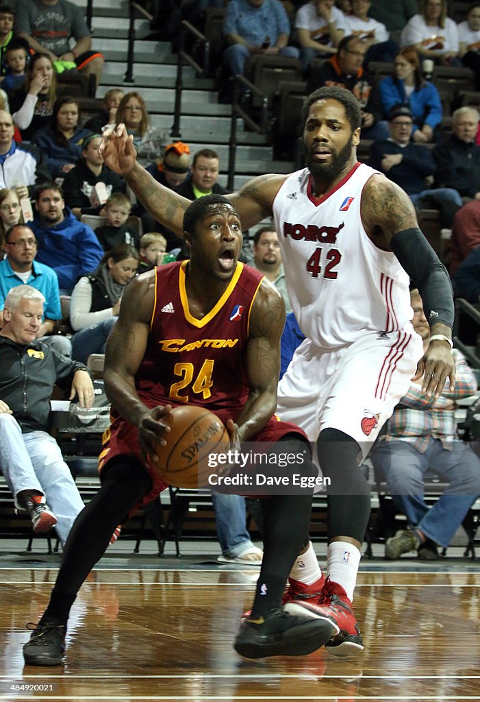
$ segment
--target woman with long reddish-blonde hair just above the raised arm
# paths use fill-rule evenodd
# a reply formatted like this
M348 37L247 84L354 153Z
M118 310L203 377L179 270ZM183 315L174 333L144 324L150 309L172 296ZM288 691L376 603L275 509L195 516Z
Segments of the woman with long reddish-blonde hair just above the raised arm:
M163 156L166 133L157 127L149 126L149 113L140 93L134 91L123 95L118 105L116 121L117 124L123 122L128 134L133 135L133 144L142 166L147 166Z

